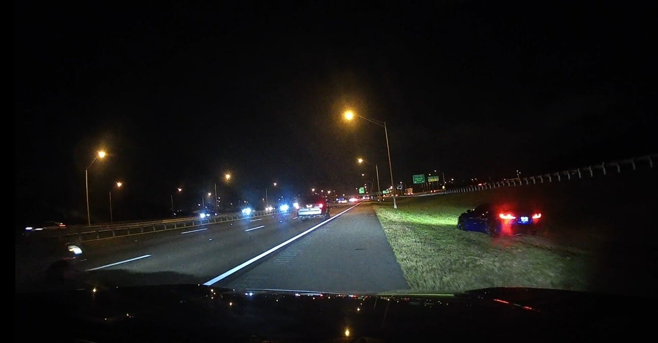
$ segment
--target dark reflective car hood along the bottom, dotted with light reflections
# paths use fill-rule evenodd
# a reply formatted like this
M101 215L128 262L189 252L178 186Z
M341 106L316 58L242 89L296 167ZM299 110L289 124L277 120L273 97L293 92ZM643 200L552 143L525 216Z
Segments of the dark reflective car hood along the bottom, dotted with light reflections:
M625 332L626 338L648 332L639 313L653 304L655 298L538 288L455 294L201 285L84 288L16 293L16 337L29 341L31 335L51 332L57 340L92 342L408 342L459 334L591 340L615 332ZM26 323L38 330L23 330Z

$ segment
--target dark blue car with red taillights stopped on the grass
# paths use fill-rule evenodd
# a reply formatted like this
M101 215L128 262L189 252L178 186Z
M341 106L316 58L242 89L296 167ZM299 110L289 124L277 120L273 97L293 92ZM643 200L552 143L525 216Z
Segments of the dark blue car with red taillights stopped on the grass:
M486 233L491 237L537 233L542 213L514 204L481 204L461 214L457 229Z

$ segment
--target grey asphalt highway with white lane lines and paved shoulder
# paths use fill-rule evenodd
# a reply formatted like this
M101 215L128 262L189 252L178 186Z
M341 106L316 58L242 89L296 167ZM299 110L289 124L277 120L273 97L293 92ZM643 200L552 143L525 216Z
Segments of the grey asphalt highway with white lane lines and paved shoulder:
M407 289L370 204L295 212L81 244L76 281L95 286L205 284L371 293ZM16 264L16 289L20 290ZM79 285L80 283L78 283Z

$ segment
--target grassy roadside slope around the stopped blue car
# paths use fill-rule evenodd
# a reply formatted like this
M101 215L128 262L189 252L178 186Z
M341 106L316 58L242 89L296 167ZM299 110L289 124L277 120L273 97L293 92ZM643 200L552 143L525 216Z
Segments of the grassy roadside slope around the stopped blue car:
M413 290L530 286L599 292L656 289L656 173L607 176L374 204ZM536 236L491 239L459 231L457 217L482 202L541 208Z

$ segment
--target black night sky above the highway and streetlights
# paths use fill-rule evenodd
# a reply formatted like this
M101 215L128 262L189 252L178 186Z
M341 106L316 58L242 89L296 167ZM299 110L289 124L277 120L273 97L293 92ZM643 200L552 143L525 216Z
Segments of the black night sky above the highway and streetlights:
M157 217L439 170L497 179L656 152L647 5L16 2L16 221ZM236 2L238 3L238 2ZM241 7L236 7L241 6ZM234 175L228 184L224 172ZM20 223L18 223L20 225Z

